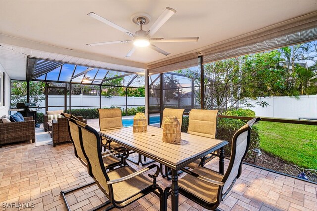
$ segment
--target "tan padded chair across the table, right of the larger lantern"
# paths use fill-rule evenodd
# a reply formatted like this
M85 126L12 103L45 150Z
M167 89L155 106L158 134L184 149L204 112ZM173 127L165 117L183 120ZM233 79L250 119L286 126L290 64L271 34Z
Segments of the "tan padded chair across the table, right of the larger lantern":
M192 109L189 112L187 133L214 139L217 133L218 112L218 110ZM203 167L212 158L214 158L214 153L188 164L187 167L192 169L199 165Z

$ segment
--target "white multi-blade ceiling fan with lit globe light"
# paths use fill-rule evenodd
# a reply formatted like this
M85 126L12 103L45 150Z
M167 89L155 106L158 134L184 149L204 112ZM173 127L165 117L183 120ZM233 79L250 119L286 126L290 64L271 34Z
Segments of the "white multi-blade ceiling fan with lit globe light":
M106 23L107 25L118 29L125 34L133 37L132 40L118 40L118 41L109 41L109 42L102 42L102 43L91 43L87 44L90 46L99 46L99 45L106 45L106 44L114 44L114 43L130 43L133 42L134 46L132 49L126 54L125 57L130 57L132 53L135 51L136 47L146 47L149 46L151 49L162 53L163 55L167 56L170 53L160 49L159 47L153 45L153 43L166 43L166 42L197 42L199 37L177 37L177 38L151 38L162 25L166 23L166 21L172 17L176 13L175 9L172 9L170 7L166 7L166 9L163 11L163 13L159 16L159 18L153 23L153 25L150 27L149 30L144 31L143 25L145 25L149 21L148 15L139 15L132 17L133 22L140 25L140 30L136 31L135 33L130 32L129 30L126 30L122 28L121 26L116 25L115 23L112 23L109 20L106 20L105 18L95 14L94 12L90 12L87 14L88 16L95 18L96 20L99 20L103 23ZM147 21L148 20L148 21Z

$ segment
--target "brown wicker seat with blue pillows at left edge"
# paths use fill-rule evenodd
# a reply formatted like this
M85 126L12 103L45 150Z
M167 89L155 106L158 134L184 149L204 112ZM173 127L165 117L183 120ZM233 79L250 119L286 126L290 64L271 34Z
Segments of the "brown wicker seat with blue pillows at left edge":
M33 117L24 117L24 122L3 123L0 118L0 147L20 141L35 141L35 121Z

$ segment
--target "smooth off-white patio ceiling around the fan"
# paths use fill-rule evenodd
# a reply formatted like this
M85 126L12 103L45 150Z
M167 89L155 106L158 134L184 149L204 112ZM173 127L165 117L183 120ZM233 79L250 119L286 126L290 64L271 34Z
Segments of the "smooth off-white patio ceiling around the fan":
M98 62L142 69L144 64L166 57L148 48L138 48L130 58L124 58L132 43L85 45L130 38L87 14L95 12L134 32L139 28L130 20L133 14L147 13L151 16L151 22L144 26L147 30L167 6L177 12L153 37L200 37L194 43L157 44L171 53L169 56L175 56L316 11L317 1L1 0L1 44L27 47L29 50L36 47L39 52L53 51L53 54L77 59L96 58Z

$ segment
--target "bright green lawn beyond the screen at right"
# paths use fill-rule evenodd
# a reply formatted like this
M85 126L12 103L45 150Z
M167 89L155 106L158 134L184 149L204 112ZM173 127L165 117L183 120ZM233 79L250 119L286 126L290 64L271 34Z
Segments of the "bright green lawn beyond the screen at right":
M317 126L259 122L261 149L287 163L317 169Z

